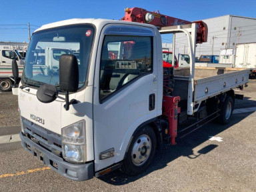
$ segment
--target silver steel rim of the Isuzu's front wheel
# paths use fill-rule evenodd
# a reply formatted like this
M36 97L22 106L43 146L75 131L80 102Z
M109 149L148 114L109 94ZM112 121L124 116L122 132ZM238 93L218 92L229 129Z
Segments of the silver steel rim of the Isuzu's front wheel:
M152 142L149 136L141 135L135 143L133 144L133 150L131 151L131 159L133 159L133 164L136 166L141 166L151 153Z

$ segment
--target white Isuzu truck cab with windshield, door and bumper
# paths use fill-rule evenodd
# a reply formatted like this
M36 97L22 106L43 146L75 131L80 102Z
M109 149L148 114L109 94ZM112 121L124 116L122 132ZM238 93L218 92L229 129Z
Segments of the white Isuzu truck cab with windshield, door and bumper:
M127 42L133 49L125 46ZM45 50L53 51L56 46L49 45L56 43L66 51L58 51L59 55L51 59L45 51L41 53L45 58L38 63L37 49L45 49L45 45L52 47ZM77 103L70 105L69 111L60 98L52 101L50 108L37 99L37 90L45 83L57 87L59 97L65 97L59 89L59 70L54 69L58 65L53 62L67 50L76 50L79 60L78 89L69 93L69 100ZM117 57L110 57L111 53ZM161 35L153 25L103 19L71 19L43 25L33 33L26 63L20 86L29 87L29 91L19 89L18 93L22 145L39 159L43 154L47 165L70 179L90 179L102 169L120 163L135 130L162 113ZM53 67L45 73L38 64ZM123 109L118 118L117 109ZM78 140L74 137L72 141L70 133L75 129ZM147 137L141 139L145 138L149 146ZM135 160L138 165L143 162L139 157Z

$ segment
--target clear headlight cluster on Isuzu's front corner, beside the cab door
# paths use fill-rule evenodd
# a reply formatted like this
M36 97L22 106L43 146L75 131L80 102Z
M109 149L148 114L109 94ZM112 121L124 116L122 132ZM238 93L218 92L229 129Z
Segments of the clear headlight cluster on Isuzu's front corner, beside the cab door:
M86 161L85 121L79 121L61 129L62 153L67 161Z

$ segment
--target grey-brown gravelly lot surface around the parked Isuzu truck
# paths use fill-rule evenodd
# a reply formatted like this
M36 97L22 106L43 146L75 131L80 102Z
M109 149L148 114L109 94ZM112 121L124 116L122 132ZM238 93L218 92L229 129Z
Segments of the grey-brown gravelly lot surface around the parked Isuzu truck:
M236 100L235 107L256 107L255 92L253 80L245 91L237 91L245 94L245 100ZM17 96L0 93L0 107L1 122L5 122L0 127L19 124ZM4 116L3 111L13 116ZM28 173L27 170L44 165L21 149L19 143L3 144L0 191L256 191L255 118L256 112L240 113L233 115L229 125L209 123L179 141L179 145L158 151L149 169L136 177L114 171L75 182L53 170ZM217 140L221 137L222 141L210 141L210 136ZM22 175L1 177L17 172Z

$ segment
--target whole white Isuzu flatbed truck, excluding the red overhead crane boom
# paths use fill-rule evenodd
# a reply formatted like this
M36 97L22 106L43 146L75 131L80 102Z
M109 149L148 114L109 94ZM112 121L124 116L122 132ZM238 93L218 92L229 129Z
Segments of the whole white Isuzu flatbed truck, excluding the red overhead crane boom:
M163 69L161 33L187 35L190 67ZM164 143L175 145L177 135L213 119L229 123L233 89L243 89L249 70L195 68L196 34L196 23L157 28L69 19L43 25L33 33L15 88L21 144L57 173L84 181L119 168L137 175ZM34 73L37 45L57 37L65 49L77 43L79 52L61 55L58 71Z

